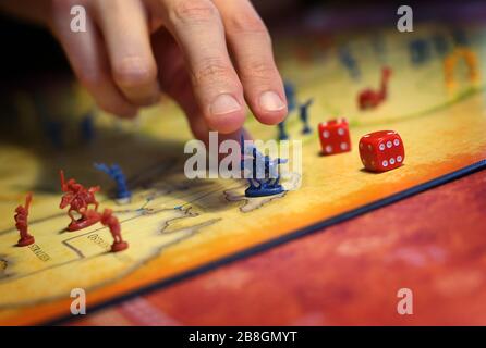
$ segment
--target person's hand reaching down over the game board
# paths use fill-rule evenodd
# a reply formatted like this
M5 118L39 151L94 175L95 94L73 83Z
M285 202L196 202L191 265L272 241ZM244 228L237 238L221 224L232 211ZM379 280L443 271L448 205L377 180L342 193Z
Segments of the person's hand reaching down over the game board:
M71 32L71 8L87 30ZM236 134L245 103L263 124L287 115L271 39L250 0L1 0L50 28L105 111L134 117L160 92L184 110L195 137Z

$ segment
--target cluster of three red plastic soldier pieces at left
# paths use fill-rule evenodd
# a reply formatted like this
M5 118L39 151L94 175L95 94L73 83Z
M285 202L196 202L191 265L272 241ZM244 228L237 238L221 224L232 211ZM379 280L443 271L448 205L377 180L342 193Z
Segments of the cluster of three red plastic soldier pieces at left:
M96 200L95 194L100 190L100 187L89 187L86 189L83 185L71 178L68 182L64 179L64 173L61 171L61 189L64 195L61 198L60 209L64 209L69 206L68 215L71 219L71 223L68 225L66 231L80 231L89 227L98 222L108 227L111 236L113 237L113 244L111 245L111 251L122 251L129 247L129 244L122 239L120 222L117 216L113 215L112 210L105 209L102 213L98 212L99 203ZM28 228L28 210L32 202L32 194L28 194L25 199L25 206L19 206L15 209L15 227L21 235L17 246L25 247L32 245L35 239L27 231ZM94 206L94 209L89 209L89 206ZM75 219L73 212L76 212L81 217Z

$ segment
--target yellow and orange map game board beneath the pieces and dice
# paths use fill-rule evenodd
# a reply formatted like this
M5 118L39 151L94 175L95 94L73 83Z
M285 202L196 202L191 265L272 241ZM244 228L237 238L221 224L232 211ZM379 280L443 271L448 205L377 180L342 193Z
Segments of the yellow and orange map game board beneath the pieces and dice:
M11 116L27 129L24 137L34 140L20 145L5 139L0 146L0 323L42 323L69 316L73 288L84 288L88 308L93 308L139 289L171 284L311 233L339 216L365 212L386 198L425 189L448 174L484 166L483 83L471 84L460 64L458 86L451 90L445 86L439 53L433 51L421 65L410 60L413 37L440 34L452 50L448 33L445 27L422 26L406 35L384 29L375 35L342 33L332 39L314 34L277 40L279 65L296 86L299 99L315 98L311 109L314 132L301 135L297 115L289 115L291 138L303 141L302 187L266 198L244 197L244 181L187 179L183 146L191 135L181 111L167 100L144 112L136 123L98 114L97 136L89 145L76 146L73 135L72 144L56 150L36 142L28 133L33 115L46 112L33 99L49 105L47 112L73 120L92 108L89 99L80 88L64 85L53 96L13 92ZM479 62L486 62L482 27L471 26L465 33L470 49ZM380 49L375 45L378 34ZM357 58L359 77L351 76L340 62L342 47ZM359 91L377 85L385 64L393 69L388 100L376 110L360 111ZM321 157L317 123L336 116L350 120L353 150ZM259 125L251 115L246 126L255 138L277 135L276 127ZM373 174L362 169L356 145L361 136L380 129L401 135L406 158L398 170ZM94 170L94 162L123 167L134 192L130 204L119 206L110 199L112 184ZM69 217L59 209L60 169L85 185L101 185L99 200L121 221L123 237L130 243L126 251L108 252L111 236L100 225L64 231ZM17 248L13 210L29 190L34 191L29 228L36 244Z

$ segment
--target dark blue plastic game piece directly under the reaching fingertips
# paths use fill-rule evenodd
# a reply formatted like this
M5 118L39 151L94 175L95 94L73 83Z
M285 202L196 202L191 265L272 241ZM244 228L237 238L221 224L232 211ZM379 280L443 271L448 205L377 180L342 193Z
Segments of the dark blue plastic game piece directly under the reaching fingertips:
M280 185L280 174L278 166L287 163L287 159L270 159L264 156L254 146L244 146L244 139L241 138L241 169L250 172L247 178L250 187L245 190L246 197L265 197L278 195L284 191ZM250 157L250 159L248 159Z

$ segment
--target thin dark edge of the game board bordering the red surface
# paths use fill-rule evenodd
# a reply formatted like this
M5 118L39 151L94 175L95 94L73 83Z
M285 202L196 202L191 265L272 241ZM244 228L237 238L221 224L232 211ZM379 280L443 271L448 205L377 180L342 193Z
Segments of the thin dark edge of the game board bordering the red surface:
M278 247L278 246L282 245L282 244L292 241L294 239L304 237L306 235L320 232L321 229L325 229L325 228L327 228L327 227L329 227L331 225L336 225L338 223L341 223L341 222L354 219L356 216L363 215L363 214L368 213L370 211L384 208L386 206L389 206L389 204L392 204L394 202L398 202L398 201L400 201L402 199L405 199L405 198L418 195L418 194L421 194L421 192L423 192L425 190L433 189L433 188L438 187L440 185L450 183L452 181L459 179L459 178L461 178L463 176L466 176L469 174L473 174L473 173L476 173L476 172L479 172L479 171L483 171L483 170L486 170L486 159L481 160L481 161L478 161L478 162L476 162L474 164L467 165L467 166L465 166L465 167L463 167L461 170L458 170L455 172L442 175L440 177L437 177L435 179L432 179L429 182L421 184L418 186L412 187L410 189L405 189L403 191L400 191L398 194L391 195L391 196L386 197L384 199L370 202L370 203L368 203L368 204L366 204L364 207L360 207L357 209L344 212L344 213L336 215L333 217L326 219L325 221L319 222L317 224L313 224L311 226L307 226L307 227L301 228L299 231L294 231L292 233L289 233L289 234L285 234L283 236L277 237L277 238L275 238L272 240L269 240L269 241L263 243L260 245L251 247L248 249L235 252L235 253L230 254L230 256L228 256L228 257L226 257L223 259L219 259L219 260L206 263L206 264L204 264L204 265L202 265L199 268L195 268L193 270L189 270L189 271L186 271L184 273L181 273L181 274L178 274L175 276L169 277L169 278L163 279L161 282L157 282L157 283L150 284L148 286L138 288L134 293L122 295L122 296L119 296L119 297L114 297L114 298L112 298L112 299L110 299L108 301L104 301L101 303L95 304L95 306L92 307L92 312L101 310L104 308L108 308L110 306L118 304L118 303L123 302L125 300L135 298L137 296L142 296L144 294L147 294L147 293L150 293L150 291L154 291L154 290L157 290L157 289L161 289L161 288L174 285L174 284L177 284L179 282L185 281L187 278L195 277L195 276L201 275L203 273L207 273L207 272L212 271L212 270L215 270L215 269L217 269L219 266L223 266L223 265L230 264L232 262L245 259L247 257L252 257L252 256L262 253L262 252L267 251L267 250L269 250L269 249L271 249L274 247ZM63 316L63 318L59 318L57 320L49 321L46 324L47 325L65 324L71 319L72 319L71 316Z

